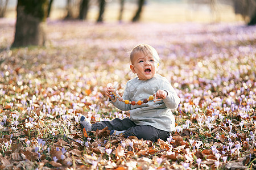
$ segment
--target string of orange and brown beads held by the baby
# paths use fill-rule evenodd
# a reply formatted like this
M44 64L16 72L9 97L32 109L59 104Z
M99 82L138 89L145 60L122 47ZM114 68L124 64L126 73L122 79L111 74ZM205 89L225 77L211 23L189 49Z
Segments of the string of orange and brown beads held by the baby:
M144 103L148 103L148 101L151 101L151 100L154 100L154 102L162 100L162 99L156 99L156 96L155 96L156 94L149 96L147 99L144 99L143 101L141 101L141 100L139 100L139 101L125 100L125 99L123 99L123 97L119 96L116 91L111 92L110 94L112 94L112 97L111 97L112 101L115 102L118 99L119 101L122 101L125 104L131 104L131 105L135 105L135 104L142 105Z

